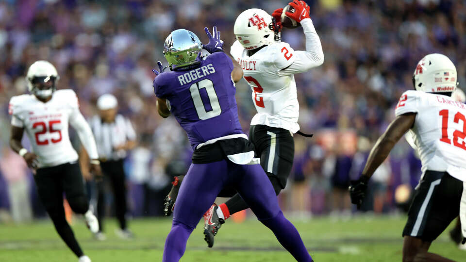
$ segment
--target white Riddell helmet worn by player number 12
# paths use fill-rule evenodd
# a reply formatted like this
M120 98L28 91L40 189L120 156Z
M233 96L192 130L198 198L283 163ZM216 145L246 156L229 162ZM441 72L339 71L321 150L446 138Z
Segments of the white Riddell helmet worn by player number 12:
M428 54L419 61L413 74L414 88L428 93L454 92L456 67L443 54Z

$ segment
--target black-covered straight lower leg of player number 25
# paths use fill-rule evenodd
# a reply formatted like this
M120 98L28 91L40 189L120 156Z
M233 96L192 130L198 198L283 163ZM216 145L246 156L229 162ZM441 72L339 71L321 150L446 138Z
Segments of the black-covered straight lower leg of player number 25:
M59 209L49 211L50 218L53 221L53 225L57 230L60 237L63 239L65 244L73 251L73 253L79 258L83 256L83 250L78 244L78 241L74 237L73 230L69 227L67 220L65 219L65 211L63 207L61 207L61 211Z

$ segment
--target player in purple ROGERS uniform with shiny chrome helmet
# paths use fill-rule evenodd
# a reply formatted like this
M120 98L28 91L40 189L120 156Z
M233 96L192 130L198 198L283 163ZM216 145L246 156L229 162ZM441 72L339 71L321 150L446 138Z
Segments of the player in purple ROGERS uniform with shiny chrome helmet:
M252 144L241 130L234 82L241 80L243 71L223 52L216 27L214 36L207 28L205 31L210 39L207 45L190 31L173 31L166 38L164 51L171 70L163 72L161 62L157 62L160 71L154 70L158 113L163 117L173 114L194 149L177 197L163 261L180 260L189 235L218 195L238 192L297 261L311 262L298 230L283 216L270 180L255 162ZM202 48L211 54L202 58ZM212 219L207 222L214 229L220 227Z

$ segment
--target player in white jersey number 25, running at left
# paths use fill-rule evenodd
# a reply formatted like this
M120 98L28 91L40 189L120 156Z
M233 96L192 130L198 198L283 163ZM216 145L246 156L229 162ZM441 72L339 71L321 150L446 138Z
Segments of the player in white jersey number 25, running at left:
M26 81L31 94L10 100L10 146L33 168L37 193L60 237L79 262L90 262L74 237L63 208L65 193L71 209L84 214L91 232L99 231L97 218L89 210L78 154L69 141L68 123L89 153L91 172L101 176L97 147L91 128L79 111L76 94L71 89L56 90L58 79L57 70L47 61L36 61L29 67ZM32 152L21 145L24 131Z

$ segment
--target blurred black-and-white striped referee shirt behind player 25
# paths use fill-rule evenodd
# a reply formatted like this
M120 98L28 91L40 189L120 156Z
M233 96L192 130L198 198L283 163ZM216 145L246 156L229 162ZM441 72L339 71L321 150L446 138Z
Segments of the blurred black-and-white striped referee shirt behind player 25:
M99 158L102 160L125 158L125 150L114 150L114 148L124 145L128 140L136 140L133 125L123 115L116 115L113 123L104 123L99 115L95 115L89 124L96 138Z

